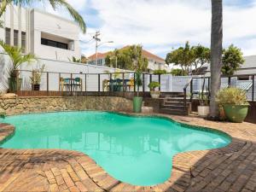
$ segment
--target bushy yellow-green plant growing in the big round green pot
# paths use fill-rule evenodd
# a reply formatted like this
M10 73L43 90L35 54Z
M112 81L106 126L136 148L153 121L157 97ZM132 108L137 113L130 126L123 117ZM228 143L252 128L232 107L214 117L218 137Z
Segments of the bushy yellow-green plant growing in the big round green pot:
M236 87L224 88L218 91L218 104L224 106L231 105L248 105L246 91Z

